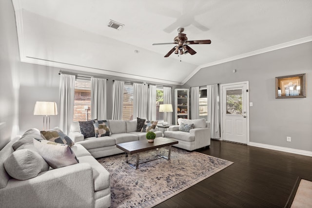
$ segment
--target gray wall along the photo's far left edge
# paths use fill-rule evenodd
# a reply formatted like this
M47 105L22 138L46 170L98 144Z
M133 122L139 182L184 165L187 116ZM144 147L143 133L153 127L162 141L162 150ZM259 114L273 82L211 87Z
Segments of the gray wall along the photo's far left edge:
M20 61L10 0L0 1L0 149L19 131Z

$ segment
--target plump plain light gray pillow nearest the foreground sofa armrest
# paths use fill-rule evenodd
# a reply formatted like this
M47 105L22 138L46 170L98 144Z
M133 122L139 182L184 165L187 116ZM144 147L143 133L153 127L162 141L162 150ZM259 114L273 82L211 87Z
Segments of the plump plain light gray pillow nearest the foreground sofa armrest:
M38 152L24 149L12 152L4 161L4 168L12 178L27 180L48 171L49 165Z

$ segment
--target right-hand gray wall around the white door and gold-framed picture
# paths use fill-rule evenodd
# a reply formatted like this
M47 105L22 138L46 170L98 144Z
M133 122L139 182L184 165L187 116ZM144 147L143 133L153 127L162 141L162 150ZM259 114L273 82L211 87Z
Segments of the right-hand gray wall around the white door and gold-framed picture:
M302 73L307 74L307 97L275 98L276 76ZM249 81L253 102L251 142L312 151L312 42L203 68L182 88L240 81Z

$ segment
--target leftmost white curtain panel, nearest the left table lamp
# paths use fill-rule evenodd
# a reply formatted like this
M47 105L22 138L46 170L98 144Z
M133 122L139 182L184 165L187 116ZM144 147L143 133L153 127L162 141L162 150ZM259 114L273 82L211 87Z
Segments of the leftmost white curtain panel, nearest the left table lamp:
M59 128L69 133L70 124L74 119L74 98L75 98L74 75L60 75L59 81Z

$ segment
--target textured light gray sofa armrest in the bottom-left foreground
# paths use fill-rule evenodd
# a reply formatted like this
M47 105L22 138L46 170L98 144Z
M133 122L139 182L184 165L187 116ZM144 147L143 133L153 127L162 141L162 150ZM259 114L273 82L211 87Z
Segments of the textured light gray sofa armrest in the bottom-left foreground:
M35 199L35 200L34 200ZM90 164L48 170L28 180L10 179L0 189L1 207L94 207L93 171Z

